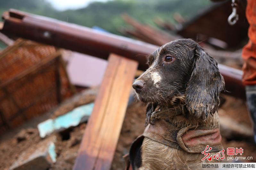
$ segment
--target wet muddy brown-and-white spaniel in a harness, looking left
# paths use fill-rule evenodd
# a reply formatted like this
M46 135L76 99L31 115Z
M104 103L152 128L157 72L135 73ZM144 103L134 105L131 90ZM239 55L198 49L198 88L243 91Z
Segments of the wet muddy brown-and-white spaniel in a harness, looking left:
M217 62L194 40L181 39L155 50L148 64L133 84L148 104L146 129L129 152L132 169L198 169L209 161L201 160L207 145L212 156L223 149L215 112L225 83Z

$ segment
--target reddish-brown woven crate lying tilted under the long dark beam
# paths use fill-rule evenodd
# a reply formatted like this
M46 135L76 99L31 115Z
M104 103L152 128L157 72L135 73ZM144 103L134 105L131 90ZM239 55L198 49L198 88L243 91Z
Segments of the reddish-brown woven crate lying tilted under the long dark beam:
M0 134L74 93L54 46L17 40L0 53Z

